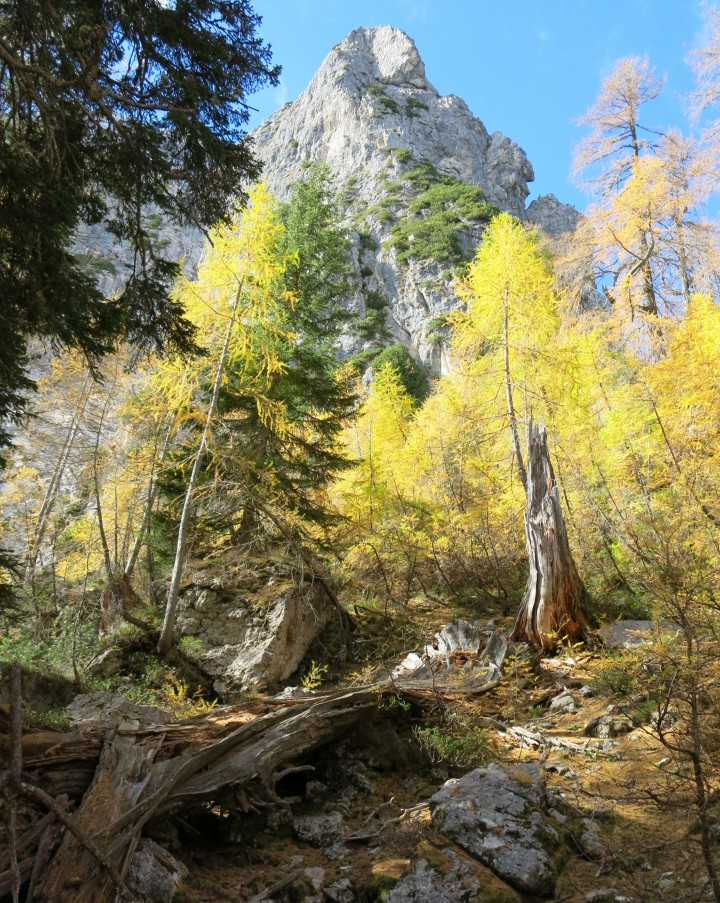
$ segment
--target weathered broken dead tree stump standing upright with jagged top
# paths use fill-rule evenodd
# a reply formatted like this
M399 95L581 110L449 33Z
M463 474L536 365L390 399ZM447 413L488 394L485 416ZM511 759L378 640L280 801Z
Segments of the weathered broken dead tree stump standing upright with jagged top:
M582 638L588 618L585 587L575 567L560 508L560 494L542 424L528 424L525 539L530 574L510 636L552 650L558 639Z

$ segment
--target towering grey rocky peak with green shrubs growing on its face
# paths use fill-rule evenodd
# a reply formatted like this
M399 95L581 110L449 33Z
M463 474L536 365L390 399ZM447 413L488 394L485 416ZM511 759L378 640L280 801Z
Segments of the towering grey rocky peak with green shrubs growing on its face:
M534 174L524 151L490 134L459 97L439 94L413 41L390 26L351 32L253 138L278 198L318 163L341 192L361 318L344 342L348 356L401 342L441 371L442 321L458 303L451 276L492 214L507 210L555 234L577 218L552 196L526 210Z

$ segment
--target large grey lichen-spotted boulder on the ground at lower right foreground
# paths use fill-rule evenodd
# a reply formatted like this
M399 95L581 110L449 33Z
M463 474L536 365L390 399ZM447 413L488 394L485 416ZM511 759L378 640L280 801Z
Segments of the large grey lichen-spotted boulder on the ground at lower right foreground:
M537 765L491 764L448 781L430 800L433 824L523 893L547 896L553 848L562 843L547 814Z

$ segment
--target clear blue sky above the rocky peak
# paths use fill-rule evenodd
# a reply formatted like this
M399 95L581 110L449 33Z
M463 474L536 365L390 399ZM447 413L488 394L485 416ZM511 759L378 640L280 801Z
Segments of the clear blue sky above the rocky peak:
M279 87L249 98L257 125L305 88L333 44L359 25L393 25L415 41L428 79L457 94L486 128L516 141L535 169L531 198L552 192L580 209L570 179L574 120L617 59L647 54L667 75L647 123L687 130L685 57L702 29L701 0L255 0L260 33L283 67Z

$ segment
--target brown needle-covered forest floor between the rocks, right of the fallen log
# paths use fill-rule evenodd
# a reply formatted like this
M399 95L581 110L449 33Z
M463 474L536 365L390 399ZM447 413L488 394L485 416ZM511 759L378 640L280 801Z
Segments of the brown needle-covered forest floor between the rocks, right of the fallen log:
M372 667L373 650L380 651L385 662L399 661L411 648L408 641L427 631L428 614L423 606L405 611L401 618L361 614L359 628L367 649L364 669ZM437 628L443 614L452 613L432 612ZM509 629L511 624L498 626ZM430 715L401 706L380 712L361 735L347 737L313 759L314 784L304 775L285 791L293 818L340 813L346 834L367 831L368 824L373 830L384 824L378 836L346 844L343 853L327 840L316 845L300 841L289 818L270 831L258 831L252 820L224 827L216 822L209 834L182 839L180 858L189 867L184 899L188 903L264 899L264 889L282 883L296 870L305 875L306 897L278 890L273 900L313 899L307 877L313 874L325 887L342 888L349 878L359 896L347 899L382 900L420 858L442 874L450 848L478 878L483 888L477 897L480 903L528 900L439 835L428 807L419 805L447 778L488 761L508 766L541 762L548 789L566 808L577 809L595 823L601 849L590 856L578 850L569 859L559 876L555 900L712 899L693 833L684 769L653 732L654 704L632 676L641 655L637 648L612 652L575 648L542 659L532 670L526 662L508 660L502 681L490 693L457 698L451 704L439 702ZM361 667L355 679L362 671ZM575 710L552 711L552 700L568 689ZM585 727L608 713L629 719L632 729L606 740L598 751L596 744L588 743ZM477 725L481 727L473 730ZM550 739L535 745L501 725ZM456 742L433 743L433 735L428 741L428 732L435 727L435 737ZM563 742L569 748L563 748ZM319 794L315 785L321 787ZM403 813L407 817L393 823Z

